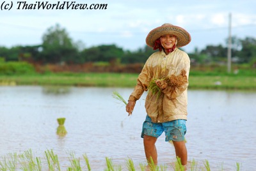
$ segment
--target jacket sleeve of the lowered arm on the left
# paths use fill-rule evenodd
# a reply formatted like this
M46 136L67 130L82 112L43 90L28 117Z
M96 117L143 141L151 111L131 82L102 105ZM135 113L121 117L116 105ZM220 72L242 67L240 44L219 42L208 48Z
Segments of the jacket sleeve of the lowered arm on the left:
M150 67L150 60L148 59L145 65L143 66L143 69L141 70L141 73L137 79L137 84L134 87L134 90L131 93L131 96L129 97L128 101L139 100L144 91L147 91L152 75L150 72Z

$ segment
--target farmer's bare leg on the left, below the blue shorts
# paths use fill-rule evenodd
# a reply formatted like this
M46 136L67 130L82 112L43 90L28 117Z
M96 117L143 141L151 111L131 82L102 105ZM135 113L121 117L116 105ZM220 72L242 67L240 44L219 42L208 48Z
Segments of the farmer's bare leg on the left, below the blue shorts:
M145 155L147 161L150 161L150 157L154 161L154 164L157 165L157 150L156 150L156 137L151 137L148 135L144 135L143 143L145 149Z

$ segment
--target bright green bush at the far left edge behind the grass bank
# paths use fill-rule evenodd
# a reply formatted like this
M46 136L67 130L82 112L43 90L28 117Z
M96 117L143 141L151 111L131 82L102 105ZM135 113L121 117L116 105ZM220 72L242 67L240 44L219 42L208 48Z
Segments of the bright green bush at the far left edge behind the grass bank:
M3 75L23 75L35 73L35 68L25 62L0 63L0 74Z

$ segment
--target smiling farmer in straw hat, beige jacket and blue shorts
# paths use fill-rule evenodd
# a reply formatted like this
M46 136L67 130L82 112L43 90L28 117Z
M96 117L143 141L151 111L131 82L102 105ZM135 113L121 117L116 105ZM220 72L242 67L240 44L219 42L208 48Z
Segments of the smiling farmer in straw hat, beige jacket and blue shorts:
M164 132L165 141L172 140L176 156L186 166L188 153L184 142L187 120L187 89L190 61L188 54L178 47L188 45L190 34L182 27L163 24L148 33L146 43L159 51L148 57L129 96L126 112L132 114L137 100L148 91L145 100L147 116L141 138L147 161L157 165L157 138ZM150 82L159 87L160 95L150 91Z

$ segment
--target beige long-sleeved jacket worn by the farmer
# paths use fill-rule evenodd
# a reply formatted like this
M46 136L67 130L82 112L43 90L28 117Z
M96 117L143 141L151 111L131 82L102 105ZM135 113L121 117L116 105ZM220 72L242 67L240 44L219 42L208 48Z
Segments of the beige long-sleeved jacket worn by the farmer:
M148 57L143 70L141 71L134 91L129 97L129 101L140 99L144 91L148 90L150 80L154 78L164 78L170 75L179 75L182 70L186 71L188 78L190 60L188 54L175 48L168 55L155 52ZM148 116L154 123L164 123L176 119L187 119L188 105L188 82L182 87L166 87L157 99L152 93L147 94L145 108Z

